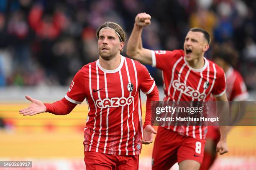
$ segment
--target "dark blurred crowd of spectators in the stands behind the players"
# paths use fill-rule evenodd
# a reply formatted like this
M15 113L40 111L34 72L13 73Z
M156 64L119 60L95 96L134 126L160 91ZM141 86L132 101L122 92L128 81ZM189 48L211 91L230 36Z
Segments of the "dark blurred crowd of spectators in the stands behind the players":
M233 66L256 90L256 1L252 0L0 0L0 86L68 86L97 60L96 29L105 21L129 34L138 13L151 15L143 46L183 48L189 28L205 28L215 45L239 52ZM123 55L126 56L125 50ZM147 66L157 85L161 72Z

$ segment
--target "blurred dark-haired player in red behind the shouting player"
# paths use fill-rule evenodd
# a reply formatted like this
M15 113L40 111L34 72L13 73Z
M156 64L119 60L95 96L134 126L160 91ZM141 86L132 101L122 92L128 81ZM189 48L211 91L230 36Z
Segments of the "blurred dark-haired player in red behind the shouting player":
M248 98L246 85L241 74L234 70L232 65L236 65L238 52L229 45L221 45L215 48L212 54L213 61L223 68L226 75L226 95L228 101L243 101ZM234 103L234 105L236 105ZM231 105L232 107L233 105ZM240 110L241 111L241 110ZM220 140L218 126L209 126L206 135L204 159L200 170L208 170L216 159L216 145Z

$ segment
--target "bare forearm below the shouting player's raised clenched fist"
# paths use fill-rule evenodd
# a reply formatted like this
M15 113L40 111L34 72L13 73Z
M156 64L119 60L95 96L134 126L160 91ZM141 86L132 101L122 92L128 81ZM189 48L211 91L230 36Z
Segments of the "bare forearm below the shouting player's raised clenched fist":
M133 31L127 43L127 54L131 57L136 56L140 49L142 49L142 34L143 27L134 24Z

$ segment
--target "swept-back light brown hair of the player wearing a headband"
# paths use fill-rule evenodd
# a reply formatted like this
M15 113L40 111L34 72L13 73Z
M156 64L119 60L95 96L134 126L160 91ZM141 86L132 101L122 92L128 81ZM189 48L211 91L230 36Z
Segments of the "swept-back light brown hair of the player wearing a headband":
M123 28L118 25L117 23L114 23L114 22L105 22L103 23L102 25L100 25L100 27L97 29L97 32L96 32L96 37L97 39L99 39L99 32L102 28L105 28L105 27L110 27L110 28L113 28L115 30L115 32L118 32L118 34L120 35L121 37L121 41L125 42L125 39L126 39L126 34L123 30Z

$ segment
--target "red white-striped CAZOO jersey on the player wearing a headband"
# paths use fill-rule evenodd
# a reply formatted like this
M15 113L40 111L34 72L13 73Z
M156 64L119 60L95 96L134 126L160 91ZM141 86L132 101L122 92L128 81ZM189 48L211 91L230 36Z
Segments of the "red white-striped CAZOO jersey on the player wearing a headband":
M86 98L89 105L84 151L140 154L143 134L140 90L149 94L154 87L155 81L146 67L127 57L121 57L115 70L105 70L99 60L82 67L65 98L77 104Z

